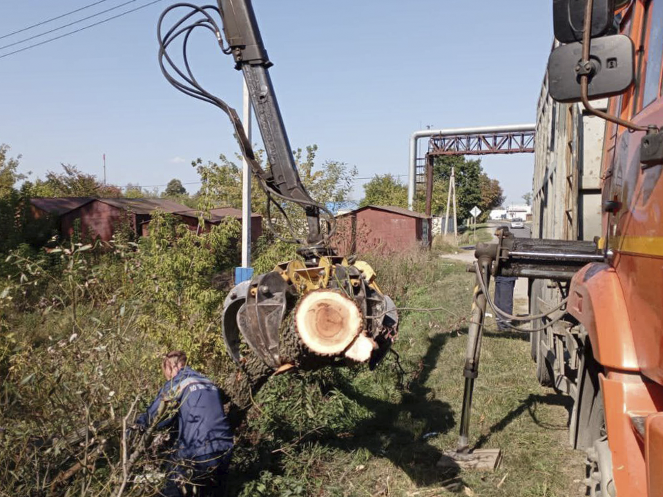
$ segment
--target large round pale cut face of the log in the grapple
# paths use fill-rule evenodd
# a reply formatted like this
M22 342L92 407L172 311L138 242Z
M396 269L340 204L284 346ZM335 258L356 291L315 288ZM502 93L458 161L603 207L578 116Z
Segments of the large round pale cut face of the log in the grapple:
M337 291L311 291L295 309L295 329L302 343L316 354L342 353L361 327L361 311L353 300Z

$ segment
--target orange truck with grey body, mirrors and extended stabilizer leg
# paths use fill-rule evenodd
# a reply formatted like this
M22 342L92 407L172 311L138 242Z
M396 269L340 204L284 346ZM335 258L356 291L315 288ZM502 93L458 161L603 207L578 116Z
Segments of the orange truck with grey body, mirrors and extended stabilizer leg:
M537 110L532 239L478 244L459 454L490 305L574 400L587 495L663 497L663 0L553 0ZM527 277L506 315L491 276Z

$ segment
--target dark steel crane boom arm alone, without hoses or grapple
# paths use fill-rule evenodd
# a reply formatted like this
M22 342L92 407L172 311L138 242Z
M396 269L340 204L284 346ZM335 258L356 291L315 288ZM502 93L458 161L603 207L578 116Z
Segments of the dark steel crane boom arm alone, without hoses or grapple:
M235 59L235 68L242 71L247 82L251 104L256 111L258 127L271 164L267 181L282 195L302 204L307 218L307 242L310 245L320 244L320 209L309 197L297 172L269 77L272 64L260 37L251 0L219 0L219 10L226 40Z

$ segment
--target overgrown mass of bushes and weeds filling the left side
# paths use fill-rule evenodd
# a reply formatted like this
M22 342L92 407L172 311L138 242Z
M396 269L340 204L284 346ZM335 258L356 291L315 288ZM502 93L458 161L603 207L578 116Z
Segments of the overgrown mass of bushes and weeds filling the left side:
M151 402L160 357L183 349L194 367L227 370L224 293L213 275L235 263L231 220L196 235L155 215L139 244L70 242L6 258L0 286L0 487L17 496L122 484L122 420ZM157 467L142 454L131 475ZM155 466L156 465L156 466ZM153 471L153 470L149 470ZM124 495L159 485L131 485ZM114 490L115 489L115 490Z

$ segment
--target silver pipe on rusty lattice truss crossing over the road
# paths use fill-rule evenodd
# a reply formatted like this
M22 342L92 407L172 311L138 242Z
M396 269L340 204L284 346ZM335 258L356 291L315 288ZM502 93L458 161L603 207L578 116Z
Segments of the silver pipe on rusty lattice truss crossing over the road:
M535 133L535 124L415 131L410 137L407 208L414 210L417 161L425 159L416 157L416 146L420 138L429 139L427 155L490 155L533 153Z

